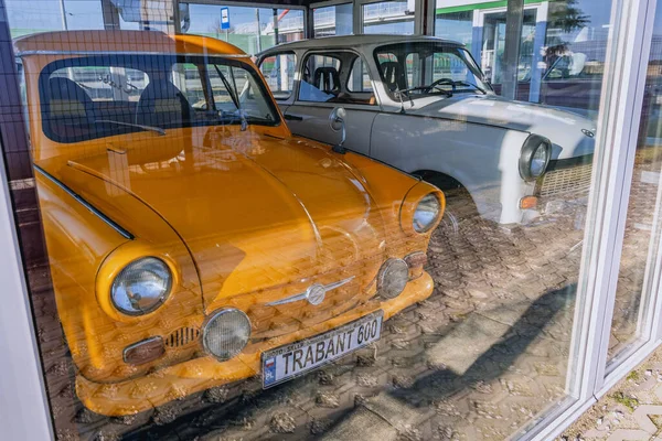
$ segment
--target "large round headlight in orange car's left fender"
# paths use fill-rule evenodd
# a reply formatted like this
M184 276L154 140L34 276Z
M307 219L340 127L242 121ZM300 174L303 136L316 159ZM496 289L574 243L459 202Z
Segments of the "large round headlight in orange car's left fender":
M127 315L142 315L159 308L172 288L168 265L156 257L145 257L127 265L110 288L113 305Z

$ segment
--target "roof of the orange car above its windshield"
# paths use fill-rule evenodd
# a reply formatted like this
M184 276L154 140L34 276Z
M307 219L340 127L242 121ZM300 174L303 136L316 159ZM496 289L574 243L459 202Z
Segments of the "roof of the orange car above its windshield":
M200 35L169 35L160 31L57 31L13 41L19 56L43 54L136 53L217 54L247 57L232 44Z

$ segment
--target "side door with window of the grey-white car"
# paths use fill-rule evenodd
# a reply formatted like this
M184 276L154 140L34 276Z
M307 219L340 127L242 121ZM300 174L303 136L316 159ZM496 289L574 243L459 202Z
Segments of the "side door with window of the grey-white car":
M343 107L344 147L370 154L371 128L380 106L364 60L351 51L309 52L301 63L300 78L296 100L284 109L290 130L337 144L341 132L331 127L329 117L335 107Z

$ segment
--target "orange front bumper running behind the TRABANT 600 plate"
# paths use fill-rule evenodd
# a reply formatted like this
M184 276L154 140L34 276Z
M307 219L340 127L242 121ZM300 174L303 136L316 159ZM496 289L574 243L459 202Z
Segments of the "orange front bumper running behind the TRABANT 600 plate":
M305 330L252 344L244 353L227 362L220 363L211 356L204 356L120 383L94 383L78 374L76 394L83 405L96 413L109 417L135 415L211 387L254 377L260 373L260 355L264 351L321 334L380 309L384 311L384 320L387 320L427 299L433 289L433 278L424 271L393 300L371 301Z

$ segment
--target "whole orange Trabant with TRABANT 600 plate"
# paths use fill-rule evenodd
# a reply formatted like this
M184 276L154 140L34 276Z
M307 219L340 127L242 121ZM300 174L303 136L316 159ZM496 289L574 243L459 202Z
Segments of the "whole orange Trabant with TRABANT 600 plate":
M260 373L271 387L380 338L431 293L442 193L292 137L237 47L131 31L14 47L90 410L130 415Z

